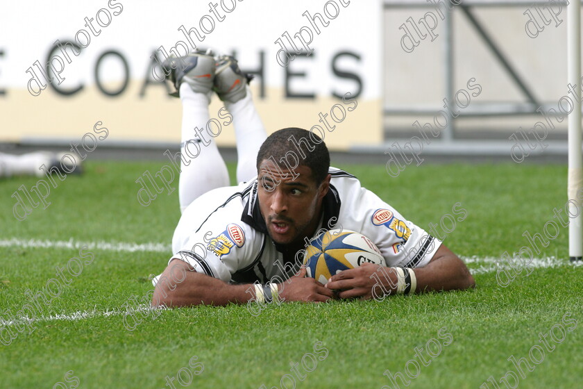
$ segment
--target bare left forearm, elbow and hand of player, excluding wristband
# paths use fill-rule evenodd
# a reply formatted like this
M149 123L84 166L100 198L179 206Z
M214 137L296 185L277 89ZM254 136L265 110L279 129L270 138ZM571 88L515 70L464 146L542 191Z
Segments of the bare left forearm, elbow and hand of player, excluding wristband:
M303 270L305 272L305 269ZM278 295L285 301L327 301L332 291L315 279L297 274L278 284ZM228 303L246 304L257 299L253 284L231 285L220 279L196 272L180 259L171 260L158 279L153 306L193 306L198 304L224 306Z

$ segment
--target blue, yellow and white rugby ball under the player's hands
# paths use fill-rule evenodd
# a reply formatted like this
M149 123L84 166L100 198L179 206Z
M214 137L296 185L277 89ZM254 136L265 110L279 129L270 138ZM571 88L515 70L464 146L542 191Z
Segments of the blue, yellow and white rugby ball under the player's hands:
M331 276L365 262L386 265L369 238L355 231L332 229L310 240L303 265L307 276L326 284Z

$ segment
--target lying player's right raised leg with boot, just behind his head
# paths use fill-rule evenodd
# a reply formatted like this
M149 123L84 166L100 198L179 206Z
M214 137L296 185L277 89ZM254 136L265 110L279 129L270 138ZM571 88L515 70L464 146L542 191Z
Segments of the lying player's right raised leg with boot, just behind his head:
M237 137L237 181L249 181L257 175L257 152L267 133L251 97L248 78L241 72L237 60L222 56L217 65L214 89L233 115Z

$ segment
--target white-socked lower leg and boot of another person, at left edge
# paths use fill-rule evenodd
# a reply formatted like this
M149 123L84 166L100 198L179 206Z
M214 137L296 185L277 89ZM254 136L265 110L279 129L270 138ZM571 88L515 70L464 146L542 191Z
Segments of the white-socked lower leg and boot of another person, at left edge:
M35 151L19 156L0 153L0 177L37 176L42 177L47 172L56 169L60 174L81 173L78 156L62 158L65 153L50 151Z

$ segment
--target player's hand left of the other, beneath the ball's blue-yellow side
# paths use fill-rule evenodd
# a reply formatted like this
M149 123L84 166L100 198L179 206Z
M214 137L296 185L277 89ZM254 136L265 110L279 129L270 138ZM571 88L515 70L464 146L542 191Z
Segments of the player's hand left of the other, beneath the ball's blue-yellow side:
M305 268L290 277L284 283L279 284L280 298L285 301L328 301L334 297L332 290L324 287L322 283L305 276Z

